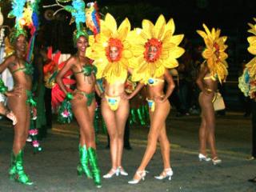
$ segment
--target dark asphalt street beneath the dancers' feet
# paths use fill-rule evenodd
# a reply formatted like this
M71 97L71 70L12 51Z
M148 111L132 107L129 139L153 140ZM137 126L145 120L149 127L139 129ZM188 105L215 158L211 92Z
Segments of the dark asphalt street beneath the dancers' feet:
M158 181L154 175L162 171L161 153L154 154L146 170L145 181L129 185L134 172L142 160L146 149L149 128L134 125L130 127L132 150L124 150L123 166L129 173L127 177L102 178L102 188L97 189L92 180L78 177L78 126L75 122L62 125L54 121L47 138L41 141L43 150L33 153L30 143L26 144L25 169L34 181L34 186L23 186L8 178L10 150L13 129L6 119L0 120L0 191L174 191L174 192L253 192L256 183L247 179L256 176L256 160L248 161L251 150L250 118L242 113L227 112L218 116L216 123L216 142L218 156L222 164L214 166L211 162L198 161L198 127L200 117L190 115L175 117L170 114L166 122L171 142L171 166L174 170L172 180ZM98 159L102 174L110 170L110 151L106 149L106 134L98 134Z

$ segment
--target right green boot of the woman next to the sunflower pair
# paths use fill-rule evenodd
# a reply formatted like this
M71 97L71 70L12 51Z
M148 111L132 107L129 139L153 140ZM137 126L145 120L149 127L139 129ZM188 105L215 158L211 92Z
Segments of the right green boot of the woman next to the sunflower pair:
M96 150L92 147L88 148L88 155L89 155L89 161L90 161L90 167L93 172L93 178L94 178L94 184L98 188L102 187L101 182L101 171L98 168L98 158L96 154Z

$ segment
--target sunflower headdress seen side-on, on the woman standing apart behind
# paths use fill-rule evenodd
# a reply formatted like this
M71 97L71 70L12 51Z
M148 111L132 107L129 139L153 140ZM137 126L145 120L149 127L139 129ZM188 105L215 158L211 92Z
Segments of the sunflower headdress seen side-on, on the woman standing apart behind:
M206 43L206 49L202 52L202 57L206 59L207 66L209 67L210 73L214 76L218 75L218 81L222 82L227 74L228 64L226 58L228 55L225 53L227 48L226 36L220 37L221 30L214 28L210 31L208 27L203 24L203 28L206 30L197 30L197 33L203 38Z

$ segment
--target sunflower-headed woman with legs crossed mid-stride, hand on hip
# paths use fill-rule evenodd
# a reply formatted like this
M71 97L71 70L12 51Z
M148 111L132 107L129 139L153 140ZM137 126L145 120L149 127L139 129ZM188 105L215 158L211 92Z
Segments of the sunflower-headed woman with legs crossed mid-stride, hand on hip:
M150 132L146 152L141 165L134 174L130 184L137 184L146 176L146 166L153 157L160 142L163 171L156 176L157 179L171 178L173 170L170 166L170 142L166 135L166 118L170 112L168 98L174 90L174 80L168 69L178 66L179 58L184 50L178 47L182 42L183 34L174 34L174 20L166 23L163 15L160 15L155 25L149 20L142 21L142 29L135 29L130 33L130 42L133 46L134 57L138 66L134 67L132 81L140 82L134 92L129 95L132 98L144 85L147 90L147 102L150 110ZM166 93L163 92L164 83L167 82Z

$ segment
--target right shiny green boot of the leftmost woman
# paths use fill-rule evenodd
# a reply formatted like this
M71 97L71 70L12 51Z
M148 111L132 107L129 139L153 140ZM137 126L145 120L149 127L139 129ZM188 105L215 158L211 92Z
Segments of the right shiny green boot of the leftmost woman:
M17 182L20 182L22 184L31 186L33 185L33 182L30 181L30 178L26 175L23 168L23 150L20 150L15 157L15 166L16 166L16 175L15 180Z

